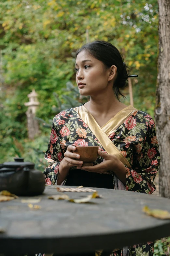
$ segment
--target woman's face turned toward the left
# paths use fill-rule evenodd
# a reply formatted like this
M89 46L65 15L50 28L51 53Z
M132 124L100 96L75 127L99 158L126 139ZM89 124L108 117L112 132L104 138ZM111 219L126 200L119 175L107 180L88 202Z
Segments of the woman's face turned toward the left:
M81 51L76 58L76 83L81 95L96 95L104 92L108 84L109 70L102 61ZM84 85L79 85L83 83Z

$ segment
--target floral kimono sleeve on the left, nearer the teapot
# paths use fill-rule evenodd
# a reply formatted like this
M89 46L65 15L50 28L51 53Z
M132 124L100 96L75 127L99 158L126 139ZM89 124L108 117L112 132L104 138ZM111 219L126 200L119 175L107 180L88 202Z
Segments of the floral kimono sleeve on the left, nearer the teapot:
M47 185L57 184L57 173L59 165L64 158L64 152L62 150L58 136L59 129L57 129L57 127L58 124L56 122L56 118L54 117L51 128L50 142L44 156L49 163L49 166L45 168L43 173Z

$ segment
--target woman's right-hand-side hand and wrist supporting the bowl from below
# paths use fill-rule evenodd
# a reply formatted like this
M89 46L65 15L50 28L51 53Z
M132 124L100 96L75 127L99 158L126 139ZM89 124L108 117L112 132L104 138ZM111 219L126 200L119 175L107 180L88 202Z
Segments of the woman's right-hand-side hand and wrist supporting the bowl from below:
M107 171L113 171L116 176L125 184L126 183L126 167L124 164L114 155L109 155L103 151L98 150L98 155L103 157L103 162L94 166L83 166L77 169L82 169L88 172L106 173Z

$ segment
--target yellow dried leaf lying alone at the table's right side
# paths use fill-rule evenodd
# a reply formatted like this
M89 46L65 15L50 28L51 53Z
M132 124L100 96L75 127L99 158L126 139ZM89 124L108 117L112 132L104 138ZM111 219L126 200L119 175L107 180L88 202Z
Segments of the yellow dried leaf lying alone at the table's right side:
M170 219L170 213L161 209L149 209L148 206L143 207L143 212L149 216L153 216L158 219Z

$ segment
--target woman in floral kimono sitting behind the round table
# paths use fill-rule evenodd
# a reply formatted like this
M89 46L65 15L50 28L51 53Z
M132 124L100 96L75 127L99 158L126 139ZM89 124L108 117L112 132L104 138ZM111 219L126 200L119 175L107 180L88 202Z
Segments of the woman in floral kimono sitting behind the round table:
M126 68L118 49L104 41L87 43L76 52L79 93L90 95L90 101L54 117L45 154L50 163L44 171L47 184L155 191L160 162L155 123L147 113L120 102ZM94 145L99 146L98 159L82 167L75 146ZM153 248L152 242L135 245L124 249L124 255L140 251L151 256ZM123 248L113 255L123 255Z

